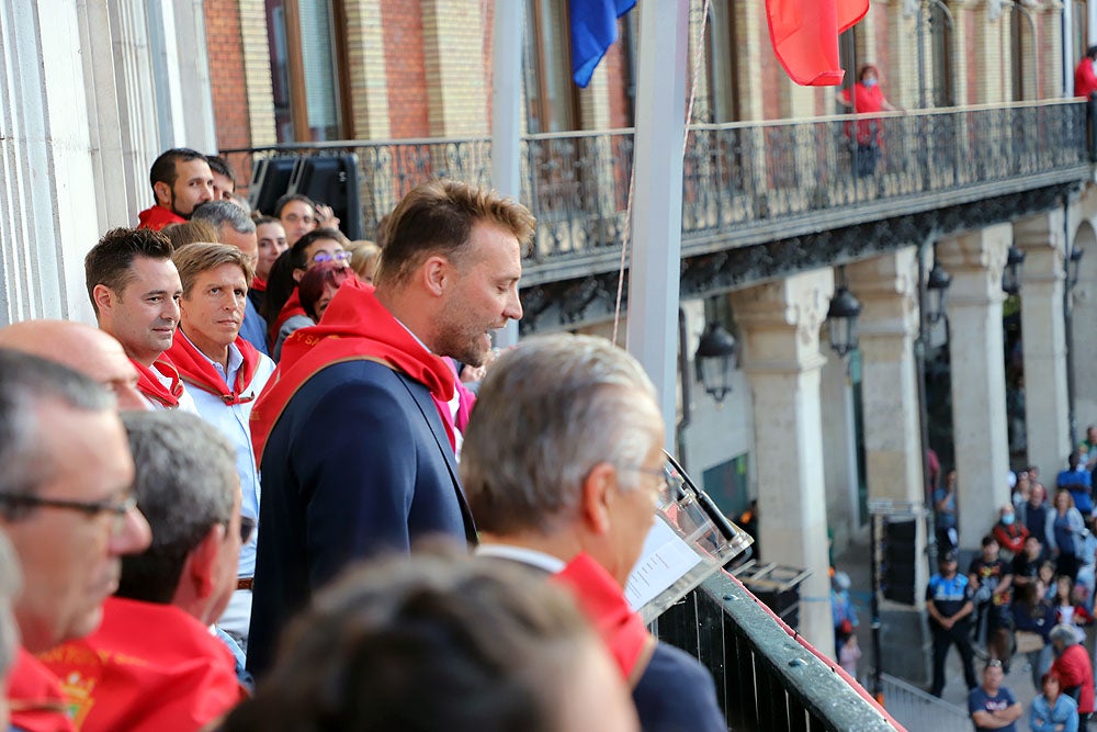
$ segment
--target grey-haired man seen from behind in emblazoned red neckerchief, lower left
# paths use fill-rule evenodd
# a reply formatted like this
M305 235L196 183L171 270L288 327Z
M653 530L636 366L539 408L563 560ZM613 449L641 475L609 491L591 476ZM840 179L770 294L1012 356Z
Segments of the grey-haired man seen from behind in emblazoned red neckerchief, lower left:
M122 417L137 508L152 543L122 560L118 588L90 635L41 655L81 732L199 730L246 692L208 626L236 586L244 534L233 449L190 414Z

